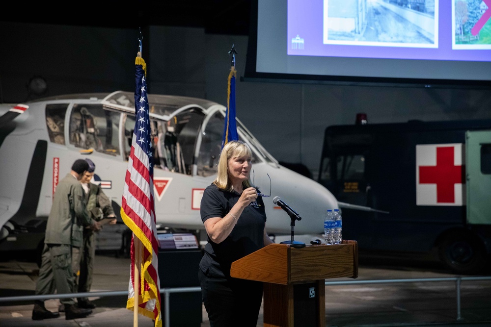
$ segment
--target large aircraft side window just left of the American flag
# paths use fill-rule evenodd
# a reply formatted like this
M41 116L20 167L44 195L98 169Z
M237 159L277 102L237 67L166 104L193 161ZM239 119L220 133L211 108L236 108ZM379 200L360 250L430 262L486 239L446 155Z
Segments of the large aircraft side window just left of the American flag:
M75 104L70 117L70 144L110 155L119 152L120 113L100 105Z

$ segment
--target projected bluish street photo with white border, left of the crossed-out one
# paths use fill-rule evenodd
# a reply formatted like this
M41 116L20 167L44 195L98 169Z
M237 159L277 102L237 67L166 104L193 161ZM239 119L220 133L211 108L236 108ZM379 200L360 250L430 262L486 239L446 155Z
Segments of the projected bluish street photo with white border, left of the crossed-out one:
M438 47L438 0L324 0L324 44Z

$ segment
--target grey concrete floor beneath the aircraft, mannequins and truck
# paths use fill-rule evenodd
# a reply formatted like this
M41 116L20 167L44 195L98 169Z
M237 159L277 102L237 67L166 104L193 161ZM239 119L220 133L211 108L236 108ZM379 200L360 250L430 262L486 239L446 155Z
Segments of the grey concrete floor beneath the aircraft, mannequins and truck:
M98 254L95 291L126 291L130 259L112 253ZM193 268L194 269L194 268ZM0 298L33 295L38 267L35 263L0 259ZM359 277L327 281L353 281L359 284L326 286L326 327L331 326L491 326L491 281L462 281L461 320L457 320L456 283L454 281L410 283L361 283L367 280L456 277L434 262L415 263L402 258L360 255ZM133 312L125 308L127 296L91 298L97 308L83 319L60 318L32 321L32 301L0 302L0 327L83 326L131 327ZM46 307L56 311L58 300L47 300ZM198 309L199 310L199 309ZM172 312L170 314L172 316ZM209 327L201 307L202 322ZM154 326L151 319L138 316L139 327ZM257 326L263 326L262 311ZM175 327L175 326L173 326ZM192 326L186 326L192 327Z

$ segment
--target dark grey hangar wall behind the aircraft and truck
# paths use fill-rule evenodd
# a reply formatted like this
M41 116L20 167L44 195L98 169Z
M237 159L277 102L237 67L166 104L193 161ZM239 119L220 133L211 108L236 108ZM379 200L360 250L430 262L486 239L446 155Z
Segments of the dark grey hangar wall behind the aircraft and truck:
M158 20L155 23L153 18L141 28L149 93L226 104L231 61L228 51L234 44L238 52L236 68L243 76L248 41L247 13L237 15L235 20L229 13L247 11L249 1L238 1L235 7L231 4L221 11L217 9L220 1L211 1L216 6L201 15L198 2L185 2L197 6L192 17L208 14L207 19L185 16L179 20L184 10L174 8L174 17L172 8L166 7L166 17L173 17L167 19L167 24ZM0 22L1 102L20 103L68 93L134 91L141 26L133 18L131 24L118 25L124 18L85 24L78 19L80 13L72 21L65 17L55 23L53 17L41 21L29 17L30 21ZM47 81L45 94L28 92L27 85L34 76ZM277 160L302 163L314 178L325 128L354 124L356 113L366 113L369 124L491 118L491 86L427 89L250 82L238 78L236 93L237 117L252 134Z

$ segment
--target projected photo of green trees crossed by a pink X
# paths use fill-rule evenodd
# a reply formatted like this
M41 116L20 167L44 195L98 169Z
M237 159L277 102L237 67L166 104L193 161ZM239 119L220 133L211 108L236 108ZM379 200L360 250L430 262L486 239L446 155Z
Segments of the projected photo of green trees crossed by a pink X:
M452 1L453 49L491 49L491 0Z

